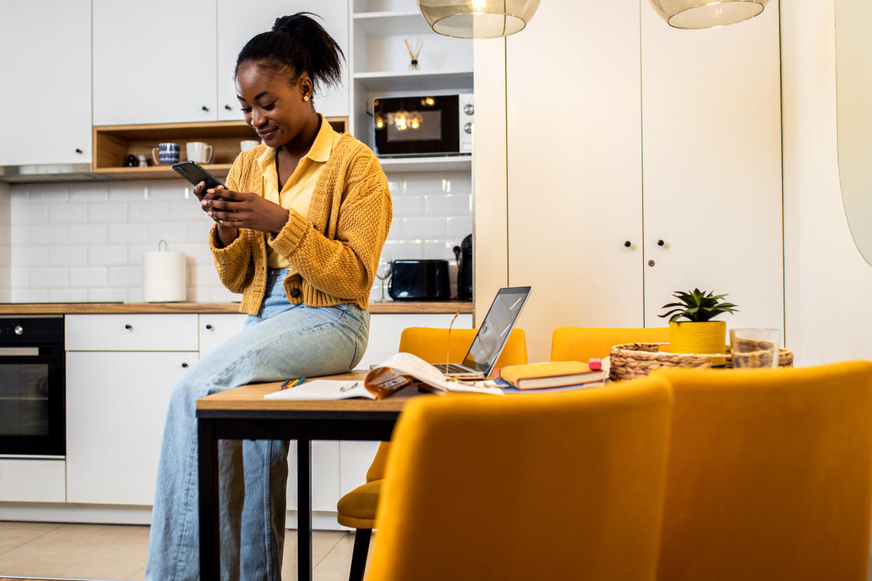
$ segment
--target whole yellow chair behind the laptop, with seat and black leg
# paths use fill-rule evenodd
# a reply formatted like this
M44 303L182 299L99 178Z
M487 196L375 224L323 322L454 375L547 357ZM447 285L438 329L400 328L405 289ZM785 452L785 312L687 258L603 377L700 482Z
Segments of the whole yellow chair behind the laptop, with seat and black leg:
M448 341L448 329L429 327L409 327L403 329L399 337L399 351L418 355L428 363L459 362L467 355L472 345L476 329L453 329L451 344ZM450 361L446 361L446 356ZM508 336L506 347L503 348L496 368L506 365L517 365L527 362L527 338L523 329L514 328ZM339 499L337 504L337 521L344 526L357 529L354 535L354 551L351 555L351 581L364 577L366 555L369 551L372 528L375 526L376 505L385 477L385 464L390 442L378 445L378 451L370 469L366 471L366 483L351 490Z

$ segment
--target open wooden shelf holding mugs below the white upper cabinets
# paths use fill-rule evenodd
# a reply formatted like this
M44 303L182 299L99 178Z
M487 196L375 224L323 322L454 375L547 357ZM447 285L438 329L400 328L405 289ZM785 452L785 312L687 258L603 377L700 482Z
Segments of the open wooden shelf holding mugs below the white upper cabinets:
M348 127L348 118L327 118L337 132ZM125 167L128 155L145 155L149 163L152 148L173 141L180 146L180 161L187 159L185 143L205 141L215 148L213 161L204 165L215 177L227 176L236 156L242 151L239 142L257 139L257 133L244 121L209 121L206 123L170 123L157 125L97 125L93 130L92 173L110 179L163 179L178 176L169 165Z

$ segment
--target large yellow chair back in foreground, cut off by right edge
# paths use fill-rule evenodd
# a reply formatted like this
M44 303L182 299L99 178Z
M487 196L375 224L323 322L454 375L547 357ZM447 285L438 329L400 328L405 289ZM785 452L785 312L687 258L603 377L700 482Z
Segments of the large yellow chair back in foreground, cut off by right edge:
M657 578L865 581L872 363L652 376L675 398Z

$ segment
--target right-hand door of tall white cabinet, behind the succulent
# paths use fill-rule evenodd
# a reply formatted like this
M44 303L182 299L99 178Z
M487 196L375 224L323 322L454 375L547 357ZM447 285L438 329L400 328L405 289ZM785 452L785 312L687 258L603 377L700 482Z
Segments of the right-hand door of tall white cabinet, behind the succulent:
M698 287L739 305L729 327L782 328L778 1L696 33L648 3L641 22L645 323Z

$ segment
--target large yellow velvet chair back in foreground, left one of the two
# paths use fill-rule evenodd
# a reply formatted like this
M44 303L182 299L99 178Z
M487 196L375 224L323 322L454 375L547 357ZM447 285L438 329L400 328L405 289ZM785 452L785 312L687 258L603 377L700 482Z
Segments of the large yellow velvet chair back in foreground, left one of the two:
M367 581L654 578L671 391L410 402Z

